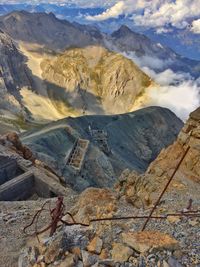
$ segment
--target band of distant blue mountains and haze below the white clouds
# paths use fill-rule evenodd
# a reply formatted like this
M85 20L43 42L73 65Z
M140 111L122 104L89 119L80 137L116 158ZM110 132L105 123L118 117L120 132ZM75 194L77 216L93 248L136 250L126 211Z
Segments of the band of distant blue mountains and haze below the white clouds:
M61 5L52 3L34 4L33 2L27 2L25 4L13 3L12 5L6 3L0 4L0 15L5 15L14 10L53 12L58 18L95 26L100 31L106 33L112 33L121 25L127 25L133 31L145 34L147 37L154 40L154 42L160 42L163 46L170 47L176 51L176 53L184 57L200 60L199 36L198 34L193 34L188 28L177 29L173 27L173 25L168 25L168 31L157 33L154 29L145 29L134 25L131 16L120 15L118 18L110 18L104 21L90 21L87 19L87 16L102 14L106 10L104 7L86 8L73 5L72 3Z

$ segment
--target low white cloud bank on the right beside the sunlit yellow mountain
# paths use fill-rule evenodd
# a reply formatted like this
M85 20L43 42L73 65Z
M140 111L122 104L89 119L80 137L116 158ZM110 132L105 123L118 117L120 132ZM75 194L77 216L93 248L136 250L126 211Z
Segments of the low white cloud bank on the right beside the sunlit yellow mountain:
M162 106L169 108L185 121L189 113L200 106L200 78L194 80L189 73L174 72L168 68L170 62L167 60L137 57L134 53L123 54L132 59L155 82L138 99L135 109L152 105ZM162 69L164 71L161 71Z

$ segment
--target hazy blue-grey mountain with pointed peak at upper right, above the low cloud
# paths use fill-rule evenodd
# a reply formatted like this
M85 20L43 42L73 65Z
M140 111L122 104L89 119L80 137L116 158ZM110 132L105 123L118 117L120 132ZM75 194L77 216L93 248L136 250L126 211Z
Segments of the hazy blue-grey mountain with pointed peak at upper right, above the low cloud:
M154 70L162 71L170 68L174 71L188 72L192 76L199 77L200 62L184 58L172 49L153 42L143 34L135 33L127 26L122 25L111 34L111 47L125 52L130 57L145 57L147 64ZM133 52L133 54L131 54ZM154 64L155 62L155 64Z

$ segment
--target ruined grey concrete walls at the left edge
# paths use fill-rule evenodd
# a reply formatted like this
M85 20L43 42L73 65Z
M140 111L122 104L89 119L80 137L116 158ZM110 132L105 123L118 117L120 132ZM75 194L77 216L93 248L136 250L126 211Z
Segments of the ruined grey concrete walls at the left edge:
M70 189L62 186L57 176L22 158L0 156L0 167L0 201L50 198L69 193Z

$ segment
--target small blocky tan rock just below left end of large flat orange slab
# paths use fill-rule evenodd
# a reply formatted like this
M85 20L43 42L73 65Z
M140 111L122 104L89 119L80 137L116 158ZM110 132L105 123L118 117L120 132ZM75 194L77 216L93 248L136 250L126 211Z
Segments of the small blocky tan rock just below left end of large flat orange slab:
M111 254L115 262L126 262L133 254L133 250L123 244L113 243Z

